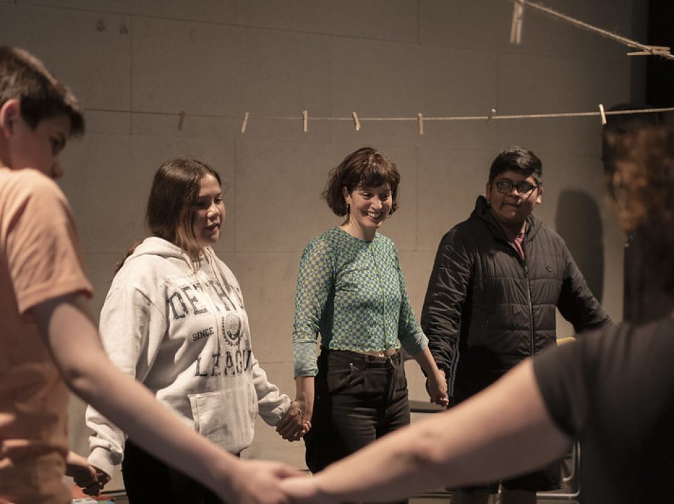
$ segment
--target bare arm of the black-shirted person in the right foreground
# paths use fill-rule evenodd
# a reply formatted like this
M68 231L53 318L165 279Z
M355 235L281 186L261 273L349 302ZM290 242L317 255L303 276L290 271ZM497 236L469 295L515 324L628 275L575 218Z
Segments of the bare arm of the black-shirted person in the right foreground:
M529 359L461 405L281 487L297 503L400 499L523 473L570 444L548 414Z

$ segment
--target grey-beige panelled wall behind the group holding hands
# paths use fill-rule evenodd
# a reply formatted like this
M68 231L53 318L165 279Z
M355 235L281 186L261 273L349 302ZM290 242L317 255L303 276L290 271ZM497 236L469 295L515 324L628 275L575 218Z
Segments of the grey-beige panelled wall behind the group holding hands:
M546 4L626 36L634 29L632 0ZM328 170L362 145L382 149L402 173L400 210L383 232L400 250L417 314L439 239L472 210L495 154L517 143L543 160L536 213L566 238L620 320L623 245L605 202L598 117L427 121L423 136L416 122L363 122L356 132L352 122L312 121L302 132L304 109L428 117L596 111L630 99L625 47L533 11L523 43L511 45L511 13L508 0L0 0L0 33L40 56L88 109L85 138L63 154L62 186L94 309L115 262L145 235L158 165L207 161L230 186L217 252L243 288L258 358L292 394L300 252L338 224L319 195ZM572 333L560 320L559 336ZM411 397L424 399L422 375L408 371ZM73 400L71 409L72 446L86 453L83 406ZM302 444L262 423L246 456L304 466Z

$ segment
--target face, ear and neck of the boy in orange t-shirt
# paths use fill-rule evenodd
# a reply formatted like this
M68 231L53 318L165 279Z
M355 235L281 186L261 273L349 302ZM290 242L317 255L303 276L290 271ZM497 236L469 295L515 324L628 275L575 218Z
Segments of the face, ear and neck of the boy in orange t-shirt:
M33 129L22 117L18 100L10 100L0 111L0 129L6 145L3 164L14 170L34 168L51 179L63 176L58 154L70 134L67 115L43 119Z

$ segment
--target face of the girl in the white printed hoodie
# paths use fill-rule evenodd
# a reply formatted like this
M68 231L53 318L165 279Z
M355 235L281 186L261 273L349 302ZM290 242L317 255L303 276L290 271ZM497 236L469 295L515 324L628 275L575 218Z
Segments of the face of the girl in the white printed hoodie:
M224 216L222 188L213 175L204 175L199 181L199 195L192 219L192 231L199 245L206 247L217 242Z

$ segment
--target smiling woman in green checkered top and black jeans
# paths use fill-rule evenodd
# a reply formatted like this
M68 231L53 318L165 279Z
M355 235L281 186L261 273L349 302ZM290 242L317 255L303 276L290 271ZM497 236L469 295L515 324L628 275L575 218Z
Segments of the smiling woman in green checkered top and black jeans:
M371 147L334 170L323 197L342 225L306 245L297 277L293 353L306 464L312 472L409 423L402 346L447 404L447 384L407 297L393 242L377 231L397 207L400 174ZM320 333L320 356L316 341Z

